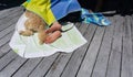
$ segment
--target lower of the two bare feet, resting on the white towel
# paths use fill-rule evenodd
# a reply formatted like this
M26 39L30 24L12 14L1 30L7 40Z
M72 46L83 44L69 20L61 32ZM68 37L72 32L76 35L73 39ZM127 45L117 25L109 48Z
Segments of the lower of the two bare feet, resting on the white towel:
M53 43L54 41L57 41L59 37L61 36L61 31L54 31L53 33L51 33L44 41L45 44L50 44Z

